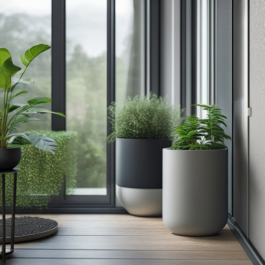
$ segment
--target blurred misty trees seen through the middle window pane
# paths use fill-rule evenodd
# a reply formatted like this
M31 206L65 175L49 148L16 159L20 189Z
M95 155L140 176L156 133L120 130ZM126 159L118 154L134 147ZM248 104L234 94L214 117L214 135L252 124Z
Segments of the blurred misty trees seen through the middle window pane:
M76 46L67 61L67 130L78 132L77 187L106 187L106 55Z

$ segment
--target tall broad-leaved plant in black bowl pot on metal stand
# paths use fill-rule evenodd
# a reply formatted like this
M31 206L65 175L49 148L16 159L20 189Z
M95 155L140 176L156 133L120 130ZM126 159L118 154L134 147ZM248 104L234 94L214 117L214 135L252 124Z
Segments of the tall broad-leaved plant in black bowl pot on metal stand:
M23 71L14 65L11 55L6 48L0 48L0 171L13 169L20 161L20 147L11 147L12 144L31 143L35 147L54 153L57 150L57 143L48 137L36 134L26 135L18 132L16 125L21 122L39 120L32 117L35 113L55 113L61 116L64 114L40 108L43 103L50 103L51 98L46 96L35 97L21 104L16 98L27 93L27 90L19 90L20 83L33 84L31 79L22 79L29 64L42 52L50 49L49 45L39 44L28 49L20 56Z

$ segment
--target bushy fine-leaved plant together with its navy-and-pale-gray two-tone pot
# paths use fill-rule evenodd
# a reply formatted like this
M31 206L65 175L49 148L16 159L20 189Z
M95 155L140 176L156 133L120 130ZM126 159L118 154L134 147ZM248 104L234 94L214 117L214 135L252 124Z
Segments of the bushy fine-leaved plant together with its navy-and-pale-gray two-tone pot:
M128 97L108 107L116 140L116 190L121 205L133 215L162 215L162 150L171 146L171 128L180 120L179 106L162 97Z

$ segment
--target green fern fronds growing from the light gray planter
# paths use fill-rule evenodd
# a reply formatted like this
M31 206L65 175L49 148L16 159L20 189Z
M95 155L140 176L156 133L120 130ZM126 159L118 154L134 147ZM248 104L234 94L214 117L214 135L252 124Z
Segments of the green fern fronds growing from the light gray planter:
M199 119L195 115L183 117L183 122L178 127L173 128L172 133L173 150L214 150L227 148L225 140L231 140L226 135L221 125L226 126L221 109L215 105L193 106L202 107L207 111L206 119Z

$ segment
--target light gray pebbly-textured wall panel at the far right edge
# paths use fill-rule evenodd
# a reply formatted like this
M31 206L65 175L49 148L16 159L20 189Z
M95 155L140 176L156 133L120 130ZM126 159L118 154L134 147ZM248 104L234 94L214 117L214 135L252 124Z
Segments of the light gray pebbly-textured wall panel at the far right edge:
M265 260L265 0L250 0L249 239Z

